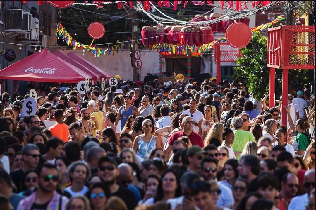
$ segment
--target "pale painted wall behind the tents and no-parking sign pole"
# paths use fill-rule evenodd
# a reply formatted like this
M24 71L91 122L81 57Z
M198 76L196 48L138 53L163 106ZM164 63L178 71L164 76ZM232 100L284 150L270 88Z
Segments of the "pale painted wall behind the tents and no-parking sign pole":
M85 52L83 55L81 50L64 50L64 54L74 52L80 57L91 62L95 66L103 69L105 72L115 76L119 74L122 80L133 80L130 51L119 52L118 54L101 55L94 57L91 52ZM142 67L140 69L140 79L144 80L147 73L159 73L159 53L156 51L141 50ZM164 62L163 62L164 63ZM165 65L163 64L163 72Z

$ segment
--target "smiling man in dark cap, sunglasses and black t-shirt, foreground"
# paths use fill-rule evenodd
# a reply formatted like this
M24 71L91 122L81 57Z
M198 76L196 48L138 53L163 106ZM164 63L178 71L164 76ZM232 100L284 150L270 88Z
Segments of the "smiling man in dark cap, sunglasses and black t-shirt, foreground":
M117 177L120 171L117 168L116 161L109 157L101 157L98 166L98 176L101 182L109 187L111 196L118 196L125 202L128 210L134 210L137 206L135 195L131 190L117 184Z

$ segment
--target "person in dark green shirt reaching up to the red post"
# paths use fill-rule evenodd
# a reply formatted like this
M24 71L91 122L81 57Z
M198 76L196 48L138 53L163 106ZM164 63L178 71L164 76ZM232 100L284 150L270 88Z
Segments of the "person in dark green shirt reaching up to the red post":
M306 119L298 119L295 124L293 124L293 120L290 116L288 110L290 110L291 105L289 107L284 106L286 112L288 113L288 120L290 127L296 131L295 142L298 144L298 150L295 151L296 155L303 156L306 148L308 147L308 135L306 130L309 129L310 125Z

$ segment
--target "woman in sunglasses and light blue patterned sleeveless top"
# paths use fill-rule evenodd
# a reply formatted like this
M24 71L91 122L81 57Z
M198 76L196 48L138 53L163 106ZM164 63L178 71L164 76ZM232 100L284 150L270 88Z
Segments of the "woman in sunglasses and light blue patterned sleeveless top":
M149 157L149 154L156 148L161 148L158 137L154 136L151 131L153 124L150 119L145 119L142 123L144 134L137 136L133 143L133 150L143 160Z

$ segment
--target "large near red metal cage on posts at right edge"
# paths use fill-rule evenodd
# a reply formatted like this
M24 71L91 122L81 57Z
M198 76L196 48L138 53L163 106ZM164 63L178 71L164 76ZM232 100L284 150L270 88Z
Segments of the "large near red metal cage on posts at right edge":
M267 66L315 69L315 26L279 26L269 29Z

